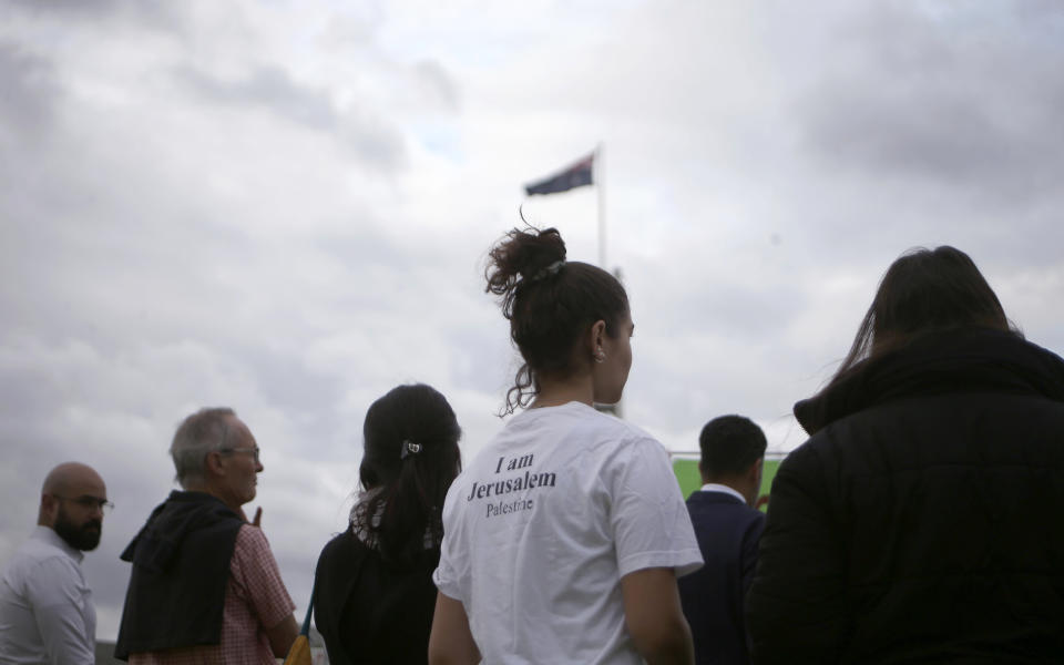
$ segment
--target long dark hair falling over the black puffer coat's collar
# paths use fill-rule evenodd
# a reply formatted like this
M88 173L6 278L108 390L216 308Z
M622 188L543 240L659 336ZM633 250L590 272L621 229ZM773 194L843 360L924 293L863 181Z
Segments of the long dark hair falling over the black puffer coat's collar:
M917 247L890 265L830 387L856 365L952 328L1020 332L968 254Z

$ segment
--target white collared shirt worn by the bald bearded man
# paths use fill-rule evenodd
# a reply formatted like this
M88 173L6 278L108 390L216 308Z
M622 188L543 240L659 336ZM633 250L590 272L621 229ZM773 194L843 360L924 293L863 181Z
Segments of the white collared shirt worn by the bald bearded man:
M0 664L95 663L96 611L84 555L38 526L0 577Z

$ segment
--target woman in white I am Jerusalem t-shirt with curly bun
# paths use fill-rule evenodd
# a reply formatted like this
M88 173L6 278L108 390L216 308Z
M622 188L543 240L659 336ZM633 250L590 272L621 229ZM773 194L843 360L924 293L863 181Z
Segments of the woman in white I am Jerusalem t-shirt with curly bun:
M429 662L690 663L676 576L702 556L676 478L593 408L632 365L624 287L553 228L511 231L485 276L524 359L505 412L525 410L448 492Z

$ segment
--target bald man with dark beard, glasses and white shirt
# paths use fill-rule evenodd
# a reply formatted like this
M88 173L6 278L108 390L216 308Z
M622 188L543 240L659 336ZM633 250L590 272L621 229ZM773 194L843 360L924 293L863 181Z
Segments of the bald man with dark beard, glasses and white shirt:
M110 505L85 464L60 464L44 479L38 526L0 579L0 663L95 662L96 611L81 560L100 544Z

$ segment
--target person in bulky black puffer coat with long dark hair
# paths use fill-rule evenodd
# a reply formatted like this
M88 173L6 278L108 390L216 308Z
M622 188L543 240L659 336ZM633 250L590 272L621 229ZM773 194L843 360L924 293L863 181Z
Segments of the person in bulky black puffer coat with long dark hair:
M883 276L795 406L747 600L755 663L1060 663L1064 361L966 254Z

